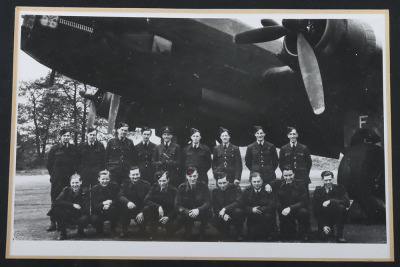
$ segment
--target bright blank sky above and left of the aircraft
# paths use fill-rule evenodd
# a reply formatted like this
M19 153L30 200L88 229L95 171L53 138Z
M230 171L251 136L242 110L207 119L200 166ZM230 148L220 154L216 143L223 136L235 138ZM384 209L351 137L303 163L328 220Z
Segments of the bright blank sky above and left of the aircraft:
M114 14L113 14L114 15ZM123 14L122 14L123 15ZM168 14L169 15L169 14ZM178 14L179 16L180 14ZM183 14L185 17L188 16L188 14ZM208 14L207 14L208 15ZM237 19L250 25L251 27L258 28L261 27L260 20L262 18L266 18L266 14L249 14L240 16L237 14L233 14L237 16ZM226 17L233 16L232 14L227 14ZM315 14L314 14L315 15ZM176 14L174 15L175 17L178 17ZM205 15L202 14L202 17ZM215 14L213 14L215 16ZM277 22L281 22L282 18L291 18L293 16L296 16L298 18L298 14L268 14L268 18L273 18ZM304 15L303 15L304 16ZM325 15L324 15L325 16ZM348 16L348 15L347 15ZM360 19L361 21L367 22L372 26L374 29L375 35L377 36L377 39L379 40L384 40L384 21L382 19L379 19L377 17L369 17L368 19L363 18ZM19 29L21 28L23 20L19 20ZM19 49L19 44L18 44L18 81L30 81L30 80L35 80L41 77L46 76L49 71L51 71L49 68L45 67L44 65L38 63L34 59L32 59L30 56L28 56L25 52Z

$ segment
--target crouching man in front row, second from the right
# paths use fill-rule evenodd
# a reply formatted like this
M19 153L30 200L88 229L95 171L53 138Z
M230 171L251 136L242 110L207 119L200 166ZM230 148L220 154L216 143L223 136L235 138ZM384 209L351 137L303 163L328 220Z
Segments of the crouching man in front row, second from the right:
M284 239L295 238L296 221L298 235L302 241L308 241L310 213L308 212L309 193L307 184L295 180L291 165L282 167L283 179L271 183L272 191L277 195L280 230Z

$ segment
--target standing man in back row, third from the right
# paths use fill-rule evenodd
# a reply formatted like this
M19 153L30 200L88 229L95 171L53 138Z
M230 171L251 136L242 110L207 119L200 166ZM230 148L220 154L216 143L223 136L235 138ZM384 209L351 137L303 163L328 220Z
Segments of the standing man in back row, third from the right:
M212 169L213 172L225 172L228 181L239 185L242 176L242 157L237 146L232 145L229 130L220 127L222 143L214 147Z

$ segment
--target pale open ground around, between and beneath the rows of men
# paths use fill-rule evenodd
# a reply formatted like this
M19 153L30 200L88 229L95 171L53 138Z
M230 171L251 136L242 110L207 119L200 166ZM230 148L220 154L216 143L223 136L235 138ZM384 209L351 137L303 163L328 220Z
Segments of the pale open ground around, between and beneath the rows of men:
M243 151L242 151L243 154ZM336 174L339 161L336 159L327 159L313 157L313 169L311 171L310 193L314 191L315 186L321 184L320 174L323 170L333 170ZM279 170L277 176L280 177ZM211 171L209 177L212 177ZM242 174L242 188L249 186L249 170L244 167ZM215 187L215 180L209 179L209 187ZM47 232L49 226L49 217L46 213L50 209L50 182L49 175L44 169L36 169L24 172L18 172L13 179L15 185L15 202L14 202L14 238L17 240L56 240L58 232ZM311 220L312 231L316 231L316 222ZM137 227L131 226L133 234L126 240L141 240L142 237L136 235ZM108 231L108 224L105 227ZM120 230L120 229L118 229ZM78 240L76 229L68 231L72 240ZM85 240L121 240L119 238L111 239L109 236L98 237L92 226L85 229ZM182 240L182 231L178 232L174 240ZM386 243L386 227L385 225L363 225L349 223L345 226L345 237L349 243ZM160 234L160 239L164 236ZM217 231L209 226L207 229L207 241L218 241L219 235ZM146 240L146 239L142 239ZM278 239L273 242L279 242ZM296 242L294 240L289 242ZM314 235L310 242L320 242Z

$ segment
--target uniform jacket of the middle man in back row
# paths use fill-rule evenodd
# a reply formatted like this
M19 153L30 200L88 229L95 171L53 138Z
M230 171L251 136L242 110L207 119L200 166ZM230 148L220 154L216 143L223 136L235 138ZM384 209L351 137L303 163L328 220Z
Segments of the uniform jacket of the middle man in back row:
M153 154L153 165L157 170L167 170L170 172L170 177L176 179L178 176L179 166L182 161L181 147L170 142L168 149L164 143L157 145Z

